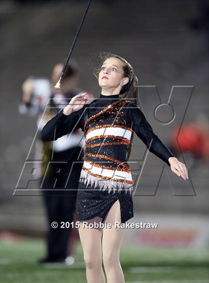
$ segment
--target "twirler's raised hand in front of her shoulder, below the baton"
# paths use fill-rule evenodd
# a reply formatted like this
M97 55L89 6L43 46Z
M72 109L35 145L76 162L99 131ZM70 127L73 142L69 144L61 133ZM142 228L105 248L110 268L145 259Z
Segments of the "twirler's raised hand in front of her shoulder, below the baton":
M84 107L84 104L89 99L87 96L85 96L87 93L82 93L75 95L71 100L70 103L63 109L63 113L65 115L70 115L74 111L80 110L82 107Z

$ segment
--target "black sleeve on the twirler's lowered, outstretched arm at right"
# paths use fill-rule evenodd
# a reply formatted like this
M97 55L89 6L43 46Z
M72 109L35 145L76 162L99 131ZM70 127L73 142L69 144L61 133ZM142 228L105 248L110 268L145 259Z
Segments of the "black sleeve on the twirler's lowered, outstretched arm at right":
M133 131L143 141L148 150L170 166L168 159L175 156L153 132L143 112L134 103L129 104L128 117L132 123Z

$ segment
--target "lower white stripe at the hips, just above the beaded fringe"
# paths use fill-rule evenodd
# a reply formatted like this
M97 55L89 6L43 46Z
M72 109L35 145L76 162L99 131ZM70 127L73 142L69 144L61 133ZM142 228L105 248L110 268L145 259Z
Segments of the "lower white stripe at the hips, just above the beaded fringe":
M91 173L101 175L103 177L109 177L109 178L112 178L112 179L125 179L127 181L132 181L131 174L127 173L127 172L96 167L96 166L90 164L87 161L84 161L83 167L88 169Z

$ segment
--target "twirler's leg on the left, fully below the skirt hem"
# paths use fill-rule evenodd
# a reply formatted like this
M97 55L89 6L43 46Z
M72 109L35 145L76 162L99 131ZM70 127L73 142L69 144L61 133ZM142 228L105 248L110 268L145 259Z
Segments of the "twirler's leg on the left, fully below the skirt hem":
M102 228L86 228L79 222L79 235L84 251L88 283L105 283L102 268Z

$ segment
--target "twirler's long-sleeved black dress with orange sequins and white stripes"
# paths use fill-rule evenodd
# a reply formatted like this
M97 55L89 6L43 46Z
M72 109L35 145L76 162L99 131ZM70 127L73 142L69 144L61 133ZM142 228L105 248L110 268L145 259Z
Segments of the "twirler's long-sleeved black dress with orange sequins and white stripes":
M125 223L134 216L133 181L127 164L133 133L169 166L168 159L174 155L153 132L140 108L119 94L100 94L68 116L60 111L44 126L41 138L56 140L78 128L85 136L85 160L77 193L77 220L104 222L118 199L121 223Z

